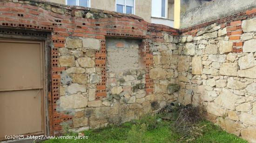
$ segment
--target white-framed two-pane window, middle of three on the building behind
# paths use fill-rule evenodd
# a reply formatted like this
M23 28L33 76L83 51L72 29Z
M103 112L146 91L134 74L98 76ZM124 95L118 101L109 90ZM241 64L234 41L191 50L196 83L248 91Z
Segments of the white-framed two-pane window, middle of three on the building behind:
M134 14L135 0L116 0L116 12Z

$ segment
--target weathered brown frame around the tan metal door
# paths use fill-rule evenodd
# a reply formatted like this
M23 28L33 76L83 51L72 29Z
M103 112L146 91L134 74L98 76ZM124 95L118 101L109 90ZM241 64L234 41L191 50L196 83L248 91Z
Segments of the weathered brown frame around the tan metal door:
M42 115L42 123L41 123L41 128L42 128L42 131L40 132L35 132L35 133L28 133L28 134L24 134L24 138L26 138L27 136L30 136L30 135L34 135L34 136L40 136L40 135L49 135L49 116L48 116L48 104L47 104L47 99L48 99L48 91L51 90L49 89L49 85L50 82L48 80L49 76L49 71L51 69L48 68L48 65L51 64L51 63L47 63L48 60L50 58L50 55L48 55L49 52L47 52L47 47L46 46L46 43L47 43L47 39L45 37L45 40L43 40L42 38L44 37L40 37L38 40L36 39L33 39L33 40L30 40L31 38L30 37L26 37L26 36L22 36L22 38L19 36L18 37L13 37L13 38L4 38L4 37L1 37L0 36L0 41L3 41L3 42L13 42L13 43L35 43L35 44L40 44L40 63L41 64L41 74L42 75L42 85L43 85L43 96L41 97L41 113L43 114ZM6 140L5 138L0 138L0 141L3 141L3 140Z

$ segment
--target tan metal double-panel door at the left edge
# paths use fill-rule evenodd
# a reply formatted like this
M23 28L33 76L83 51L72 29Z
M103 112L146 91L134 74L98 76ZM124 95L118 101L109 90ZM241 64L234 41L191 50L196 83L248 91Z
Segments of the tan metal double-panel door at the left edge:
M45 132L43 47L40 41L0 39L0 140Z

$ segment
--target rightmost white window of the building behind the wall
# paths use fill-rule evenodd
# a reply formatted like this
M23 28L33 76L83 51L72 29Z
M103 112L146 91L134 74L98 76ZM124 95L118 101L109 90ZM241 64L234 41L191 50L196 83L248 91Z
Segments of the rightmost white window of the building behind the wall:
M152 0L152 17L167 18L167 1L168 0Z

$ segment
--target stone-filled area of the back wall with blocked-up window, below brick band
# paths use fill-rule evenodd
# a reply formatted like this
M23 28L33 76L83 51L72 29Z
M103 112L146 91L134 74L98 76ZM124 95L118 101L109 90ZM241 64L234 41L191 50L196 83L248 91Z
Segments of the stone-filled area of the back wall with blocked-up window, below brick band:
M165 33L162 42L108 37L106 57L100 59L106 60L105 72L97 68L100 42L72 37L59 48L60 66L66 68L61 72L57 112L73 117L61 125L81 131L127 122L177 99L178 37Z

